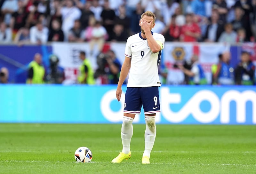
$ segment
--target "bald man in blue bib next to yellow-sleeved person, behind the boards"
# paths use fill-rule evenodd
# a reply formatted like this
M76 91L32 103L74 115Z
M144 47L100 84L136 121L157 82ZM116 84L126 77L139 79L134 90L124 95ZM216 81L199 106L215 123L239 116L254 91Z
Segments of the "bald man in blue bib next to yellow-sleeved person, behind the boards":
M234 68L229 65L230 52L225 51L223 54L220 54L219 59L218 64L212 65L212 84L234 84Z

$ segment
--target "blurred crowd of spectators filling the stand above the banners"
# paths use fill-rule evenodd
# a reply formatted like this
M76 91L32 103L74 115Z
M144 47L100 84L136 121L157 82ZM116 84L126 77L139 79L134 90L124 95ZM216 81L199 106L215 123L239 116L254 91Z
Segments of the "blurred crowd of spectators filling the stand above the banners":
M2 0L0 43L126 41L156 14L166 41L253 42L256 0Z

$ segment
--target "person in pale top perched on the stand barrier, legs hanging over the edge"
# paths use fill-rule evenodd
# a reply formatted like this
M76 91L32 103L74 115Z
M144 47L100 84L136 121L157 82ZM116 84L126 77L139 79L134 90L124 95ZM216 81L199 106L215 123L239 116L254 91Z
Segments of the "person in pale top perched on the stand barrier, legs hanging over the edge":
M98 44L98 51L102 51L105 40L108 36L107 30L101 25L100 21L96 21L92 28L92 35L90 44L90 51L92 55L93 47Z

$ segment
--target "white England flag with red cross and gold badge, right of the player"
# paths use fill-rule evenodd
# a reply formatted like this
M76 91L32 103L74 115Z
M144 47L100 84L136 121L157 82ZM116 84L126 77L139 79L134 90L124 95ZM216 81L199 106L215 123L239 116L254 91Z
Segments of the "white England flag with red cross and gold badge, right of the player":
M211 84L211 67L213 64L218 63L219 54L224 51L230 51L230 46L224 43L165 43L161 68L162 71L163 69L167 70L166 83L182 84L184 82L184 74L179 68L174 67L174 65L184 64L185 62L191 64L191 57L196 55L198 62L203 67L207 82Z

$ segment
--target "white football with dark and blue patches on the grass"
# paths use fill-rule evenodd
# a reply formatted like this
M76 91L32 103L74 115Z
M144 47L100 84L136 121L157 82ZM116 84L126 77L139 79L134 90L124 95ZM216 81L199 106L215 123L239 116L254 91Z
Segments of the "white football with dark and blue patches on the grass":
M91 162L92 151L88 147L79 147L75 152L76 162Z

